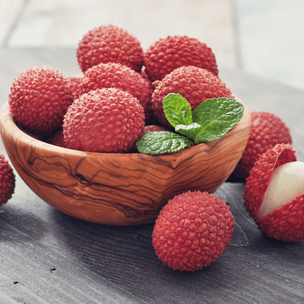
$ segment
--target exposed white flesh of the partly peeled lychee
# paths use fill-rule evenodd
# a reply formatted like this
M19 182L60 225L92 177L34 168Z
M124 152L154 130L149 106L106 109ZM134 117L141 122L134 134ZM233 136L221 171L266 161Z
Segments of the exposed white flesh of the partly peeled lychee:
M257 219L266 216L304 193L304 163L290 162L274 169Z

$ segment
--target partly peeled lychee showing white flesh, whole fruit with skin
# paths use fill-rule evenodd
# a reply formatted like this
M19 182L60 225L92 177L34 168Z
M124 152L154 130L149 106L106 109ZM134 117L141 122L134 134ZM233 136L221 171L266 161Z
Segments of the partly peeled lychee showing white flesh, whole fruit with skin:
M244 205L258 228L284 242L304 239L304 163L290 144L260 156L244 187Z

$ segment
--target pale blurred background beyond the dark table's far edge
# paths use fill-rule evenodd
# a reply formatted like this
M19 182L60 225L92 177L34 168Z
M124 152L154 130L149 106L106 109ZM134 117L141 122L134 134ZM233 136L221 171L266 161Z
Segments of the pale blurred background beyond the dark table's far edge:
M219 68L304 89L302 0L0 0L2 48L77 48L102 24L123 27L145 51L168 35L206 43Z

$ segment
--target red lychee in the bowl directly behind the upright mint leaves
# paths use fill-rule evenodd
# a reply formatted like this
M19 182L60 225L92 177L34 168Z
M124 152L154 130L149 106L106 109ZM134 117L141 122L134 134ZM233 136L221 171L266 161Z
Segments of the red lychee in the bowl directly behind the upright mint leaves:
M158 82L152 94L152 108L159 122L172 128L165 117L163 100L169 93L179 93L192 110L209 98L234 98L231 91L217 76L196 66L181 66Z

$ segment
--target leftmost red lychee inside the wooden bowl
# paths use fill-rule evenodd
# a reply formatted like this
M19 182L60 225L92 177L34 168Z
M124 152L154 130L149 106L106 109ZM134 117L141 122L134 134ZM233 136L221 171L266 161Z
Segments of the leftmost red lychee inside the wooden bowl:
M32 134L47 134L58 129L72 102L66 78L58 70L46 66L20 73L9 94L13 119Z

